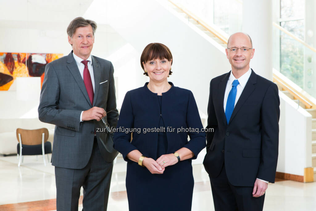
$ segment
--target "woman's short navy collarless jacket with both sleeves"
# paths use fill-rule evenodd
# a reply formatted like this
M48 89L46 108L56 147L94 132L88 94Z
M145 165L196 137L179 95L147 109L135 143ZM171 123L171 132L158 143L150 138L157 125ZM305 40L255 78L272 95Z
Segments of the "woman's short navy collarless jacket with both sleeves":
M160 112L157 93L151 92L147 84L126 93L117 125L121 132L114 134L114 148L122 153L126 161L130 161L126 155L136 149L146 157L157 159L158 133L144 133L144 129L158 128L162 116L167 133L167 154L186 147L194 153L192 159L195 159L205 147L205 133L202 132L203 126L192 92L169 82L172 87L162 93ZM174 132L167 132L167 127L174 128ZM140 129L140 133L133 132L132 142L131 133L122 131L127 128ZM178 133L178 128L183 128L182 132ZM191 128L191 131L185 132L186 128Z

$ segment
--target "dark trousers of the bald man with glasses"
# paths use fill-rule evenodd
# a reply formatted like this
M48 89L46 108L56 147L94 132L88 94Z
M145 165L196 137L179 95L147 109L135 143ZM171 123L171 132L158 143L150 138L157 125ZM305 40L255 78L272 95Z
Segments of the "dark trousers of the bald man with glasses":
M264 196L252 196L253 187L239 187L229 183L225 164L221 173L210 177L215 211L262 211ZM254 183L255 181L253 181Z

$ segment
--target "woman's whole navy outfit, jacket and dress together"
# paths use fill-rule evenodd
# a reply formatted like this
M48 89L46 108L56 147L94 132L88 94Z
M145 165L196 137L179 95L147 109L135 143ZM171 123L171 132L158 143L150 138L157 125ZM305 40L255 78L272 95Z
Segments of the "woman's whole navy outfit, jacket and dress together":
M161 155L173 153L181 147L189 148L194 152L194 158L196 158L205 147L205 133L178 133L177 131L179 124L186 128L194 126L202 129L191 91L174 87L170 83L172 87L162 93L162 96L158 96L147 88L147 84L126 94L117 127L117 129L119 127L141 128L141 133L134 132L132 142L128 141L130 133L117 132L114 135L114 148L121 152L123 158L128 161L126 190L129 210L189 211L194 186L191 159L167 166L163 174L151 174L146 167L141 167L126 158L126 154L138 149L144 156L156 160ZM178 92L181 94L179 95ZM186 96L185 98L183 94ZM177 101L178 97L181 99ZM186 103L182 104L184 102ZM139 106L143 108L139 108ZM187 112L190 115L187 115ZM187 124L187 121L179 123L181 121L177 121L179 113L182 113L183 119L188 120L189 118L190 123ZM167 131L167 127L175 128L174 132L172 129ZM144 128L165 128L165 130L144 133ZM187 140L188 135L191 138L190 141ZM186 140L183 140L184 138Z

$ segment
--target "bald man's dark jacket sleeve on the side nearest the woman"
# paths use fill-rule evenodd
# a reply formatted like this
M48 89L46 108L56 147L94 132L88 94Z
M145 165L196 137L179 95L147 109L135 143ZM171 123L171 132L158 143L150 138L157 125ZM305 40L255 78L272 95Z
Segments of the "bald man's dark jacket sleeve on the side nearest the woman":
M214 109L213 103L213 95L212 95L212 81L210 82L210 95L209 95L209 103L207 105L207 126L206 126L206 153L209 151L215 131L218 127L216 113ZM211 128L213 128L213 132L211 132Z

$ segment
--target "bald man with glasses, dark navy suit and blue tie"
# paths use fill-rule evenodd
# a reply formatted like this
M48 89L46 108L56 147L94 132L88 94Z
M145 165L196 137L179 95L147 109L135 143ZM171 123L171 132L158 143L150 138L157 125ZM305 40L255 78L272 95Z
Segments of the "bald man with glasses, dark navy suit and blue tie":
M231 35L226 54L232 71L210 82L207 128L214 132L206 135L203 164L216 211L259 211L276 174L278 89L249 67L249 35Z

